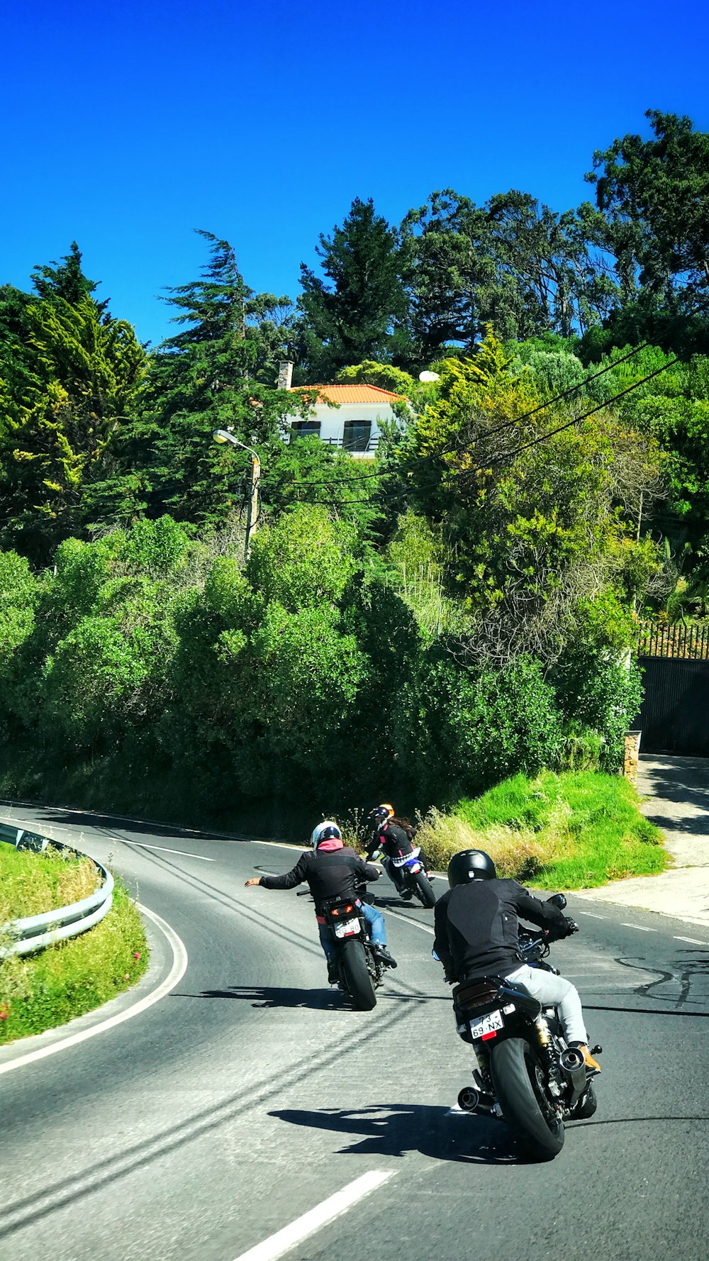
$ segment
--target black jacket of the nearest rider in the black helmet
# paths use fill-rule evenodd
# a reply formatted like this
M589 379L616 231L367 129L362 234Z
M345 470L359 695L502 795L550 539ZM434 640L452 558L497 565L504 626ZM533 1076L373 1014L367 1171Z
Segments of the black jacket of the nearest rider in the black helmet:
M554 937L568 936L559 908L532 898L516 880L471 880L444 893L435 904L434 950L445 976L507 976L520 967L517 917L549 928Z

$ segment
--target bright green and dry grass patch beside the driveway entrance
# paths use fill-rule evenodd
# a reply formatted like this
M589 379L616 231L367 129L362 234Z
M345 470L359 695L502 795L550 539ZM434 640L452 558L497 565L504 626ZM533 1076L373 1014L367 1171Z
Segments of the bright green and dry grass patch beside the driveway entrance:
M486 850L500 875L542 889L580 889L655 875L670 861L662 834L640 813L618 776L544 772L515 776L450 813L431 810L418 841L445 870L463 849Z

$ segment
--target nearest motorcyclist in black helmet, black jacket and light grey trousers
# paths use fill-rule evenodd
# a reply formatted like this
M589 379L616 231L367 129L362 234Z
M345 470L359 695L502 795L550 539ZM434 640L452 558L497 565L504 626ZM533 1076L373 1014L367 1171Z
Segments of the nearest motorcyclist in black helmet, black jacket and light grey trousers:
M517 946L519 915L551 937L578 931L558 907L540 902L516 880L497 878L495 863L483 850L462 850L448 864L450 889L435 904L434 951L447 981L472 981L503 976L522 984L545 1006L555 1006L569 1047L579 1047L587 1068L601 1072L588 1049L582 1001L578 990L555 976L522 962Z

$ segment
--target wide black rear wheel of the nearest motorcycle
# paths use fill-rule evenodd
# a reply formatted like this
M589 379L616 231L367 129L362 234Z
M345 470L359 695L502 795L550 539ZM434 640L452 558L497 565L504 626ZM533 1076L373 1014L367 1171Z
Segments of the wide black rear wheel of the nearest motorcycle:
M564 1146L564 1122L551 1115L530 1043L524 1038L497 1043L489 1071L505 1120L521 1145L536 1160L553 1160Z

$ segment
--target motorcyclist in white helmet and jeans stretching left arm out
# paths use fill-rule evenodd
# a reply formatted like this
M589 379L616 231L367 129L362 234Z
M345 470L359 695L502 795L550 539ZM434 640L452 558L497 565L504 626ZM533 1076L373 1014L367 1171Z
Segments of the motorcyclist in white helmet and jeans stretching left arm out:
M319 926L320 946L328 963L328 981L337 985L337 948L334 933L325 923L322 914L322 904L328 898L346 898L356 903L365 915L370 928L372 950L385 967L396 967L396 960L390 955L386 946L386 929L384 915L376 907L371 907L357 897L357 886L366 881L378 880L380 869L365 863L354 850L343 845L339 827L332 820L325 820L313 828L310 836L312 850L305 850L298 863L285 875L254 876L246 881L246 888L260 884L265 889L294 889L304 880L313 894L315 903L315 918Z

